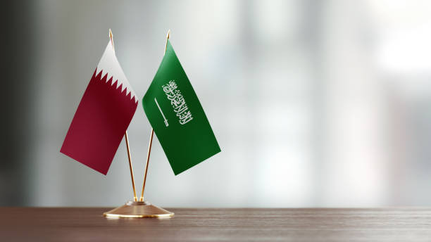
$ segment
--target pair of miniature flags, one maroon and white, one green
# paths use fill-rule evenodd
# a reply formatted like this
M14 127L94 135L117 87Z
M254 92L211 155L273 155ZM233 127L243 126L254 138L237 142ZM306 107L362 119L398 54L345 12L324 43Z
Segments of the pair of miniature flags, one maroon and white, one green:
M108 173L138 101L118 63L111 39L82 96L61 153ZM169 40L142 106L175 175L220 152L204 109Z

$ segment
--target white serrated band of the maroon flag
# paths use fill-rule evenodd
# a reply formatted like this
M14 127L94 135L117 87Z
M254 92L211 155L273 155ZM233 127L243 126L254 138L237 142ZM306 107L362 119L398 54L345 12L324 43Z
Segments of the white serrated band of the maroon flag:
M105 52L101 57L99 64L97 65L96 75L98 75L100 71L102 71L102 77L104 77L104 75L108 73L108 78L106 79L106 82L111 79L111 77L113 83L118 80L116 88L120 87L120 84L123 84L121 91L127 89L126 95L131 92L131 98L135 98L135 102L138 101L135 91L133 91L132 86L130 85L129 81L127 81L127 78L124 75L120 63L118 63L111 40L108 42Z

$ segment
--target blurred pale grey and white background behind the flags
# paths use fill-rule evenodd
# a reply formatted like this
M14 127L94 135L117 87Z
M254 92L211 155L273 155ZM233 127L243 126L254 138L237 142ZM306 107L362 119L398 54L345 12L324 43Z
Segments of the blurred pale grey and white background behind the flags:
M175 177L155 139L152 203L431 205L431 1L52 0L1 10L0 205L132 198L124 141L106 176L59 152L109 28L140 97L171 30L222 149ZM138 191L151 130L139 107L128 129Z

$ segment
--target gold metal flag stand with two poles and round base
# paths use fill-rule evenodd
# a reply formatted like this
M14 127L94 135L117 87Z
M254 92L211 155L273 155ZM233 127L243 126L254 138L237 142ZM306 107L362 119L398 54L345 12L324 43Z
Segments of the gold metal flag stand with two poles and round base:
M170 30L166 35L166 44L165 44L165 53L166 46L168 45ZM113 46L113 37L112 32L109 30L109 38L111 38L111 43ZM145 181L146 181L146 173L148 172L148 163L149 157L151 153L151 145L153 144L153 136L154 129L151 129L151 136L148 146L148 153L146 154L146 165L145 165L145 173L144 173L144 183L142 184L142 193L139 201L136 196L135 189L135 178L133 177L133 168L132 168L132 158L130 156L130 147L129 147L129 138L127 137L127 131L124 134L125 143L127 148L127 157L129 158L129 167L130 167L130 177L132 177L132 187L133 187L133 200L128 201L125 205L122 205L118 208L114 208L108 212L104 212L105 217L127 217L127 218L136 218L136 217L173 217L174 213L169 212L168 210L164 210L163 208L159 208L156 205L152 205L148 201L144 201L144 189L145 189Z

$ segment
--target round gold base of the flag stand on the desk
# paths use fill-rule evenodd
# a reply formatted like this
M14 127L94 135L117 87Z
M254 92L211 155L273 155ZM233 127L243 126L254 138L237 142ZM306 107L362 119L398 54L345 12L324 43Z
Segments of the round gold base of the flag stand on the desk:
M129 201L125 205L104 212L105 217L173 217L174 213L152 205L149 202Z

